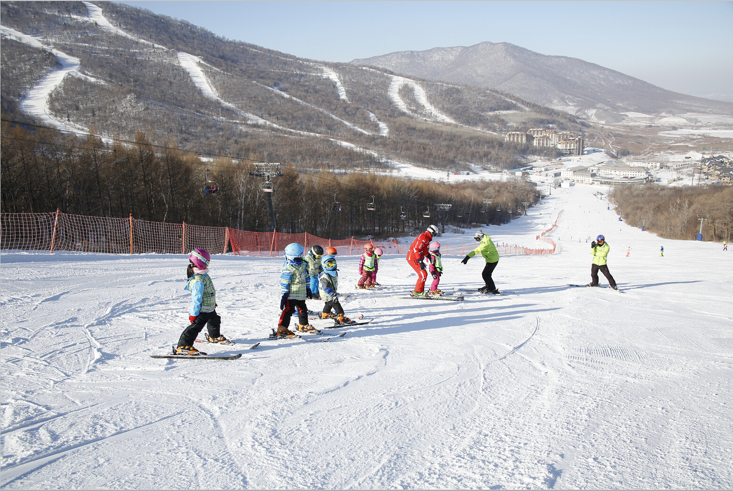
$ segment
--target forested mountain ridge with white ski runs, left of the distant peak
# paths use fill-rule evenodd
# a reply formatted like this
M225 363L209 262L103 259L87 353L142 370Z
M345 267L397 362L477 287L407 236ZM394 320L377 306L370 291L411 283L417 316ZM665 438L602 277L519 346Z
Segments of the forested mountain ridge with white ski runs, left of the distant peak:
M127 139L142 131L197 153L302 169L388 160L506 168L517 149L504 145L504 131L583 129L495 90L299 59L123 4L6 1L1 14L2 106L12 120ZM62 69L32 114L29 96Z

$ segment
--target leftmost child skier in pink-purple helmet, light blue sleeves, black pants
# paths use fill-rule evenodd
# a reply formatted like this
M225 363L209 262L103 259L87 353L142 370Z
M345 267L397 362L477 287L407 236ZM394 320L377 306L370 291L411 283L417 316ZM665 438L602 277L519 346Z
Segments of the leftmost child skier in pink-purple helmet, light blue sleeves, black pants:
M208 330L206 340L210 343L232 344L219 332L221 317L216 313L216 289L209 277L209 261L211 256L203 249L194 249L188 255L188 282L183 289L191 291L191 308L188 311L191 324L181 332L176 354L206 354L194 348L194 340L204 326Z

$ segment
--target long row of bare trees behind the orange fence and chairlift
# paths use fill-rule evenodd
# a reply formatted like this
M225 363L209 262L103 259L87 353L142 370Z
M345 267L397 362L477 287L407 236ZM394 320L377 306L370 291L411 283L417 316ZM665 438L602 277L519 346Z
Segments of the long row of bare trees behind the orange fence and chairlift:
M2 126L1 152L5 213L59 208L67 214L132 214L152 222L270 230L264 178L254 175L248 161L202 162L174 142L154 145L140 131L133 142L109 142L8 123ZM449 184L383 173L283 170L272 182L276 228L334 239L399 233L442 219L457 225L508 222L521 203L536 198L534 185L521 180ZM216 194L205 193L214 183ZM493 200L489 207L486 198ZM441 212L436 203L452 208Z

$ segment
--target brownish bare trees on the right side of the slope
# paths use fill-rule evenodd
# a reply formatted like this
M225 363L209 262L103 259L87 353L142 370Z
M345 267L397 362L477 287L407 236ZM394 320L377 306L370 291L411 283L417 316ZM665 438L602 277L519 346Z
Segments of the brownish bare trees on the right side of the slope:
M610 194L627 222L666 239L695 239L702 222L705 241L730 241L733 187L617 186ZM702 221L699 219L703 219Z

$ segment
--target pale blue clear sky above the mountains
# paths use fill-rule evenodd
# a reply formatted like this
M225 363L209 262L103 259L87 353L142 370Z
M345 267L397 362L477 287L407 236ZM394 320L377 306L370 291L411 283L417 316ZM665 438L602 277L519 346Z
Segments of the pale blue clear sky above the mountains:
M125 1L220 36L349 62L513 43L733 101L733 1Z

